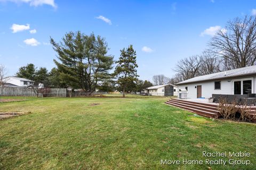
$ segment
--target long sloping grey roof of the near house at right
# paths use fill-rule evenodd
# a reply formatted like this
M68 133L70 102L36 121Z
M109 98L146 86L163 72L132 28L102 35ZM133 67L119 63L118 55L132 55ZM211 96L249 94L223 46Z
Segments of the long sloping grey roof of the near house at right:
M234 70L222 71L222 72L219 72L219 73L202 75L202 76L198 76L198 77L195 77L195 78L192 78L192 79L181 81L181 82L176 83L176 84L186 84L186 83L193 83L193 82L199 82L199 81L234 78L234 77L252 75L252 74L256 74L256 65L252 65L252 66L248 66L248 67L242 67L242 68L234 69Z

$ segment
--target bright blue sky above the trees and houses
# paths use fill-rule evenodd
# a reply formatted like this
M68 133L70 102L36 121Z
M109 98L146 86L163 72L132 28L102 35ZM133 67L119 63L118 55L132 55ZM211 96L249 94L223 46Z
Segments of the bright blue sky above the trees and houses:
M68 31L106 38L109 54L132 44L140 79L172 77L175 63L201 54L218 29L235 17L256 14L256 1L0 0L0 64L9 75L20 66L54 67L50 36Z

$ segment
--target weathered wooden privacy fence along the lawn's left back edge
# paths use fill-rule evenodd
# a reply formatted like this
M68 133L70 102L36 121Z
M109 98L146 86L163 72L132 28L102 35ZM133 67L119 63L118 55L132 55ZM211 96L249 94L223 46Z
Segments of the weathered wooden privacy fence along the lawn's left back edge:
M24 87L0 87L1 96L37 96L33 89ZM39 96L43 97L66 97L64 88L44 88Z

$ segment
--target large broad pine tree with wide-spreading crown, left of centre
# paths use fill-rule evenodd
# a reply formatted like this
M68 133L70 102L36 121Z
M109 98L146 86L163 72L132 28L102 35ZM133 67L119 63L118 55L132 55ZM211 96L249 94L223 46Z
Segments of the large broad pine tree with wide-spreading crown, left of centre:
M68 86L80 88L91 94L99 83L106 81L113 68L113 56L107 55L108 46L104 38L84 35L80 31L69 32L56 43L51 38L53 49L58 54L54 63L60 79Z

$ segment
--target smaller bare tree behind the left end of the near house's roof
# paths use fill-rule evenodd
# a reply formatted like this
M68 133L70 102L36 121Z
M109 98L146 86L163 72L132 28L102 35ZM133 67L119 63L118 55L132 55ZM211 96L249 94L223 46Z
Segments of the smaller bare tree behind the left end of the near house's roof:
M191 56L180 60L176 64L174 71L178 72L183 80L191 79L200 75L199 67L201 63L202 58L200 56Z

